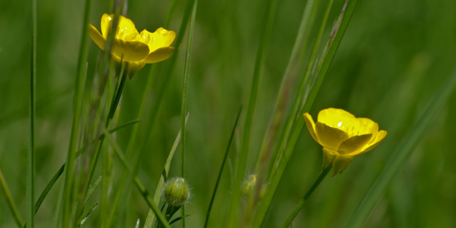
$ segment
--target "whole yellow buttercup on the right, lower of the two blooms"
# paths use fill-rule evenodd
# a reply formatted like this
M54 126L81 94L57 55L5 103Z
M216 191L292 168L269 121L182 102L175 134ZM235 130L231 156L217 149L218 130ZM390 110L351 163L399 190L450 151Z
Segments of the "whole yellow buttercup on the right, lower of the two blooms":
M323 167L333 162L333 176L342 173L354 156L373 149L387 135L371 119L356 118L342 109L321 110L317 123L308 113L304 119L312 137L323 146Z

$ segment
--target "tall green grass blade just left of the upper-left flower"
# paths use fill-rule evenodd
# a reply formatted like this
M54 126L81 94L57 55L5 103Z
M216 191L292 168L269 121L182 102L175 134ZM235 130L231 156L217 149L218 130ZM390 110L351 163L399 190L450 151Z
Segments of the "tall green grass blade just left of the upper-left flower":
M76 83L74 85L74 99L73 99L73 120L71 123L71 135L68 145L67 161L65 165L65 184L63 194L63 227L69 226L71 207L73 202L73 179L74 179L74 159L76 157L76 144L79 133L79 120L81 114L81 105L83 98L84 82L85 82L85 68L87 62L87 39L89 30L89 19L91 11L91 0L86 0L84 10L84 22L82 25L81 45L79 46L79 57L76 73ZM57 218L60 219L60 218Z

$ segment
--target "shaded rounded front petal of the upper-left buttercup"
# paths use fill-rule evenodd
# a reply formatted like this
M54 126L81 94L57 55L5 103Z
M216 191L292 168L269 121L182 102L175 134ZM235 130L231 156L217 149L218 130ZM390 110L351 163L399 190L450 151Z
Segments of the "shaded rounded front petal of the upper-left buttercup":
M149 54L149 46L139 41L114 39L111 54L127 62L139 62Z

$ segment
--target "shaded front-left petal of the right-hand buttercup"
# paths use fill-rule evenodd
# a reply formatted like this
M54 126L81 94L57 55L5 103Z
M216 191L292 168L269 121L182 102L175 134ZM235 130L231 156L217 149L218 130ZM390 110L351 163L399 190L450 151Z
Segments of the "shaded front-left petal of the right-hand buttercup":
M321 122L315 124L315 133L320 145L335 151L337 151L339 145L348 138L348 135L344 131L330 127Z

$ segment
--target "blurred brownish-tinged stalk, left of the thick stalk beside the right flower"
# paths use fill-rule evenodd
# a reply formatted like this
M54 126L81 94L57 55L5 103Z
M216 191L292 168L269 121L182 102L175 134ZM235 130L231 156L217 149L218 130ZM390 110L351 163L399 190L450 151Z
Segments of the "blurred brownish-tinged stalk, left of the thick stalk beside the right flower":
M307 41L310 36L310 29L312 24L310 23L315 20L319 6L319 0L308 0L302 14L301 23L296 35L295 44L292 49L292 54L287 64L287 68L283 74L282 83L278 92L277 99L275 101L273 114L266 130L266 134L261 144L260 154L256 163L255 173L258 174L258 178L255 184L253 196L249 198L249 204L246 212L247 220L250 220L250 216L253 213L254 205L258 203L261 187L263 186L263 179L265 178L268 164L271 160L271 152L274 146L274 138L276 137L279 127L284 118L285 112L288 107L290 100L291 87L296 80L296 65L299 62L300 53L305 53Z

